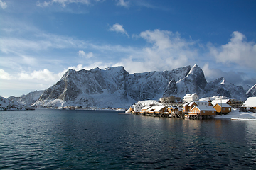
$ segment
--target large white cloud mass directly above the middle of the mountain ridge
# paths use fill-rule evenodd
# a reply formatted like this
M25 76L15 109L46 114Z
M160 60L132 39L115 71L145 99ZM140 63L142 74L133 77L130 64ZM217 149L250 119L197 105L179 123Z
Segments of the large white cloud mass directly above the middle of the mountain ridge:
M149 46L118 63L124 65L128 72L171 70L195 63L198 57L193 47L196 42L184 40L178 33L146 30L139 36L149 42Z

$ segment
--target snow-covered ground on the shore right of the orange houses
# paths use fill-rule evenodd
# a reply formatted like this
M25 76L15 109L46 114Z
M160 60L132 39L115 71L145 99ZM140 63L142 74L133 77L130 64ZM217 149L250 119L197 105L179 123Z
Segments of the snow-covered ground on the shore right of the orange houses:
M253 112L239 112L238 109L232 108L232 111L227 115L216 115L215 118L255 118L256 113Z

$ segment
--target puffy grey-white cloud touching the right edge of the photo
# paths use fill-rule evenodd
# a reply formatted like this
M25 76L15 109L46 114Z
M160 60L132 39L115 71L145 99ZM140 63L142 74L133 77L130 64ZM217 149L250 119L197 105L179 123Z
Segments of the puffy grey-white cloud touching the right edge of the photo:
M256 69L256 44L255 42L247 42L245 35L238 31L232 33L232 38L228 44L218 48L209 43L208 47L210 55L215 57L218 63L235 63Z

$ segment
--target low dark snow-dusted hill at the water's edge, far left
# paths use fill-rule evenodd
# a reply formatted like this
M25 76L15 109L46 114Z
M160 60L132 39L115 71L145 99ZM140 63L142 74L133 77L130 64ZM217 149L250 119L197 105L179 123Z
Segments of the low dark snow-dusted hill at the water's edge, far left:
M33 108L21 105L16 101L11 101L0 96L0 111L16 111L16 110L31 110Z

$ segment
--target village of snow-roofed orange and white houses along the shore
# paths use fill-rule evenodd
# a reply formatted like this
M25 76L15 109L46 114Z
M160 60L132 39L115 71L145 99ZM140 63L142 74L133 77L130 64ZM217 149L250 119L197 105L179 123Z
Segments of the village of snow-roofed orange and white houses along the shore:
M178 117L178 118L208 118L216 114L228 114L231 112L231 101L225 96L211 101L210 98L201 98L199 100L197 94L186 94L183 98L183 105L169 106L161 104L161 106L143 106L138 102L129 108L130 113L136 115L151 115L159 117ZM247 102L248 101L248 102ZM243 106L254 106L256 109L256 97L248 98ZM254 103L254 104L253 104Z

